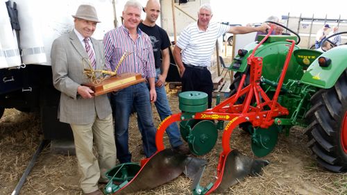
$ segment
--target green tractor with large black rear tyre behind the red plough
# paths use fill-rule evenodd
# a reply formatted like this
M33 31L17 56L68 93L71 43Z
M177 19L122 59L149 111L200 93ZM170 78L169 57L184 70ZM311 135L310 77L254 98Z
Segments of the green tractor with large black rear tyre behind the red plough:
M335 35L344 33L347 32ZM296 36L271 35L255 51L255 56L263 58L260 83L268 96L274 94L278 85L288 51L286 40L300 42L300 37L294 34ZM295 46L278 96L278 103L289 110L289 115L276 118L276 126L271 126L274 130L254 128L248 122L239 125L251 134L255 155L262 157L270 153L278 133L288 135L291 126L303 126L309 138L307 145L319 165L338 173L347 171L347 45L332 43L330 38L335 35L324 40L332 45L332 49L324 53ZM264 35L260 35L257 40L263 38ZM246 74L244 85L250 82L247 58L255 46L257 42L248 44L233 59L230 70L236 73L230 85L231 94L237 91L243 74ZM243 99L239 99L239 103Z

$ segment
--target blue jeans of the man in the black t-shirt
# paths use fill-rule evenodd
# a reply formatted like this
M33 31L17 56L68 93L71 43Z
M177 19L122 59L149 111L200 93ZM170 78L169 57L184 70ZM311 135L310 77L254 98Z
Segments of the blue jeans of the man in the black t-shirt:
M158 80L160 69L156 69L156 72L157 76L155 77L155 82L157 82ZM165 90L165 86L155 87L155 92L157 92L157 101L155 101L155 107L158 110L160 120L164 120L166 117L172 115L169 101L167 100L167 92ZM141 124L138 123L138 125L139 130L142 131L144 128ZM180 130L178 129L176 122L167 127L166 132L169 136L171 147L176 148L177 146L183 144L182 140L180 139Z

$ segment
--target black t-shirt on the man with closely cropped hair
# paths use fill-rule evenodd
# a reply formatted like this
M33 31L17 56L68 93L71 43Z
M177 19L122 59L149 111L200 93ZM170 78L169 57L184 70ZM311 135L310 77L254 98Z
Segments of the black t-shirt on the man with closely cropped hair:
M160 68L162 65L162 62L160 60L160 58L162 57L162 50L167 49L171 45L169 36L167 35L167 31L160 28L156 24L152 27L140 23L139 29L141 29L141 31L149 35L153 47L155 68Z

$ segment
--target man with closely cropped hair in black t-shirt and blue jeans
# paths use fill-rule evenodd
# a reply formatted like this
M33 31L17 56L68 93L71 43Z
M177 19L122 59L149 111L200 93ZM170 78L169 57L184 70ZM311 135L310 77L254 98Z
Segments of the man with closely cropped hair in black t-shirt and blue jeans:
M157 72L155 77L155 91L157 92L155 107L158 110L160 119L164 120L166 117L172 115L164 86L170 65L169 46L171 43L167 36L167 32L155 24L160 14L160 3L157 0L149 0L147 1L144 11L146 12L146 19L139 24L139 28L151 38L155 69ZM162 60L160 60L160 58L162 58ZM144 128L139 124L139 130L142 129ZM180 131L176 123L171 124L166 132L167 135L169 135L170 144L175 151L183 154L190 153L187 146L185 146L180 139Z

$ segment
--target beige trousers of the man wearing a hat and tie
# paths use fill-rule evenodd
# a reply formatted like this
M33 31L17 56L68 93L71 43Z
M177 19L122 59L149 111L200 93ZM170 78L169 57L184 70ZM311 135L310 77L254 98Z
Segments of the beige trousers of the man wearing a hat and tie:
M112 115L105 119L96 117L94 124L70 124L74 133L78 170L81 173L81 188L84 193L96 191L99 178L116 165L116 144L113 134ZM98 159L93 153L93 139Z

